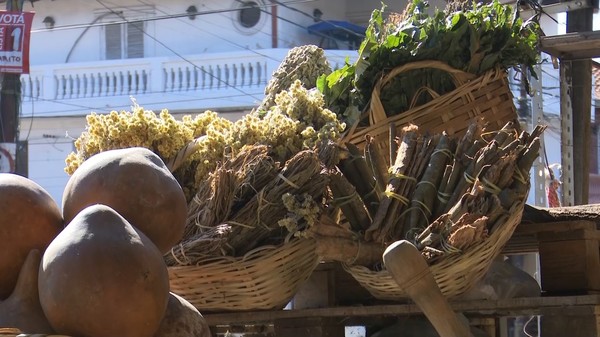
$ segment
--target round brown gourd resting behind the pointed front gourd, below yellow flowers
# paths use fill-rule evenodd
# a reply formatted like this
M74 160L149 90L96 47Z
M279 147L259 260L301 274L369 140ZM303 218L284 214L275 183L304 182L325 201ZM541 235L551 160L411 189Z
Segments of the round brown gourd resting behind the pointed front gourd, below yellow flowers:
M181 240L185 194L160 157L146 148L100 152L73 173L63 195L65 221L97 203L121 214L162 253Z

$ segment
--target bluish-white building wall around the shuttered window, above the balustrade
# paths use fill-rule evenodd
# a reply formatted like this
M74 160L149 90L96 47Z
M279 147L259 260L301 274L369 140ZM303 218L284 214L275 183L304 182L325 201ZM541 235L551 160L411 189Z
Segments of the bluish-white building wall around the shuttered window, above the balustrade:
M115 2L104 2L114 4ZM112 5L115 11L133 6L125 11L130 19L148 19L169 15L184 14L193 2L188 1L144 1L153 8L140 8L140 1L123 0L119 6ZM107 8L95 1L38 1L32 8L25 3L25 11L35 11L31 37L31 64L65 63L71 52L69 62L87 62L103 59L102 26L88 27ZM196 3L200 15L194 20L188 17L146 21L145 52L146 57L179 56L223 52L242 49L260 49L271 47L271 20L263 13L260 23L251 29L241 29L234 24L237 18L236 0L204 1ZM268 10L268 8L266 9ZM213 14L203 14L222 11ZM46 16L52 16L56 25L47 30L43 24ZM102 20L98 21L102 22ZM77 26L77 28L73 28ZM260 28L260 29L258 29Z

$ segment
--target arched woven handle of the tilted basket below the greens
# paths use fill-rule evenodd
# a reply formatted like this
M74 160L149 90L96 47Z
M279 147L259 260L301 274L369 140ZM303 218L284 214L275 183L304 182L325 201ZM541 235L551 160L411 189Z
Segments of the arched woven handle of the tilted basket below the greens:
M477 76L474 74L470 74L464 72L459 69L452 68L448 64L436 61L436 60L427 60L427 61L416 61L407 64L403 64L399 67L392 69L389 73L379 79L373 88L373 92L371 93L371 103L370 103L370 111L369 111L369 121L371 125L377 124L387 118L385 110L383 109L383 104L381 104L380 93L381 89L386 86L394 77L398 76L403 72L407 72L415 69L423 69L423 68L432 68L443 70L450 75L452 81L456 88L461 85L467 83L468 81L476 78ZM421 88L422 89L422 88ZM419 95L422 93L422 90L419 89L417 92ZM430 94L431 94L430 90ZM438 95L439 96L439 95ZM435 98L435 96L432 96ZM411 103L411 108L414 108L415 99L413 97L413 102Z

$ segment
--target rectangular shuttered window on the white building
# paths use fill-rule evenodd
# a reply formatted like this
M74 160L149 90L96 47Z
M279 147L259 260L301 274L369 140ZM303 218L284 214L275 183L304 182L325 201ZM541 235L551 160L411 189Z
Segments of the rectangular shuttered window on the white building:
M105 26L107 60L144 57L144 22Z

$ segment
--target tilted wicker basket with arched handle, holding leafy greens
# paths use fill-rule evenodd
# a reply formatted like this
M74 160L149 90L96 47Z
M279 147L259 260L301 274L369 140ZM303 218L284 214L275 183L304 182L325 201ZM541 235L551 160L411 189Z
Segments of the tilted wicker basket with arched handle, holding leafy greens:
M423 87L415 93L409 110L387 117L379 98L381 89L399 74L423 68L447 72L455 84L455 89L438 95L433 90ZM418 61L396 67L382 77L373 89L367 111L369 126L354 125L346 135L345 141L363 148L368 135L374 139L380 153L386 155L389 153L390 128L393 128L396 134L400 134L400 129L411 123L422 131L445 131L451 136L462 135L468 126L478 119L487 123L488 130L498 130L506 122L517 118L506 76L505 70L494 68L477 77L440 61ZM416 98L425 92L433 99L415 107Z

